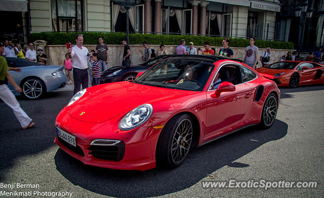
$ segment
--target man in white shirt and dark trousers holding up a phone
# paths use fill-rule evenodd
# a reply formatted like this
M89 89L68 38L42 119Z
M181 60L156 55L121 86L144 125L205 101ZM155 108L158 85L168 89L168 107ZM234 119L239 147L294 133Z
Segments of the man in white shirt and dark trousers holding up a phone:
M76 45L68 49L70 58L72 58L73 66L73 81L74 81L74 91L76 94L80 91L80 86L82 89L88 88L89 75L88 75L88 61L89 61L89 51L86 47L83 47L83 35L76 34L75 36Z

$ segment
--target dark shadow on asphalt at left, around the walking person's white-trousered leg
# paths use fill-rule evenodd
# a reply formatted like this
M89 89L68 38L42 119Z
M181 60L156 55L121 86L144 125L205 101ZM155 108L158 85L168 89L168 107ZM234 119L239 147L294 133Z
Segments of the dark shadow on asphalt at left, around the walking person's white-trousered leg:
M35 127L22 130L12 109L0 100L0 181L19 157L43 152L55 146L55 118L69 102L73 92L50 92L43 99L27 100L17 96L22 109L35 122Z

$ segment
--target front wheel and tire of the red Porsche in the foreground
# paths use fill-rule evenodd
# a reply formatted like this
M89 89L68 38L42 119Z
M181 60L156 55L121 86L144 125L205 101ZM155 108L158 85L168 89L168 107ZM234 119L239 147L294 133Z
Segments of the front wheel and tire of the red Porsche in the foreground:
M178 167L185 160L193 137L193 122L188 114L171 118L158 139L156 148L157 166Z

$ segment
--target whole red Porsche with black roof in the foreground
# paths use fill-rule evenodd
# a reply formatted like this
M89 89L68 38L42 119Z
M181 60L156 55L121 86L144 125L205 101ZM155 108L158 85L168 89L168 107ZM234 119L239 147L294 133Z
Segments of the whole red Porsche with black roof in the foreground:
M279 98L273 81L231 58L175 55L136 80L75 94L56 118L55 142L86 165L173 168L191 147L270 127Z

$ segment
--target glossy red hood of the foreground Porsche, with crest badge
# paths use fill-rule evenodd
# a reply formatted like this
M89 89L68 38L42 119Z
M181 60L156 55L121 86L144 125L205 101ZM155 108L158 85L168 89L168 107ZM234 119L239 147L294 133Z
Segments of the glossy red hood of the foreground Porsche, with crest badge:
M166 101L187 96L192 91L174 90L131 82L118 82L87 88L78 101L67 107L69 114L77 120L102 123L120 114L125 114L142 104ZM84 112L84 113L83 113Z

